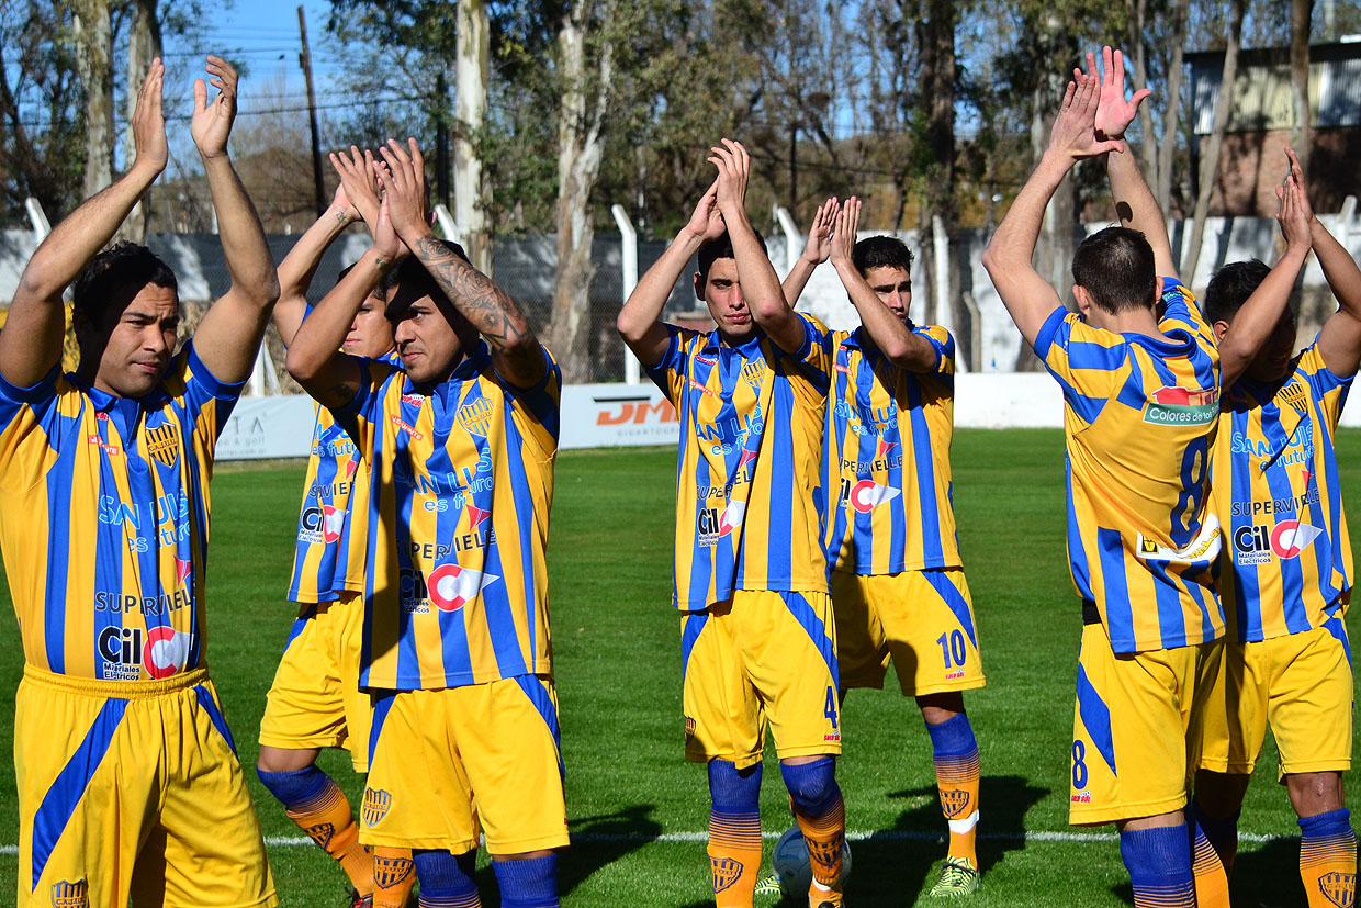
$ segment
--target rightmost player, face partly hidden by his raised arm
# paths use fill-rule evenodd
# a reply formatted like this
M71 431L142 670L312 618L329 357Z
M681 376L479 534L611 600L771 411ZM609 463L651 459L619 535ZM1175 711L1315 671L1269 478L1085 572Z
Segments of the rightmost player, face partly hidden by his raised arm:
M1356 836L1342 796L1351 766L1353 678L1343 625L1351 543L1334 436L1361 361L1361 270L1313 216L1294 152L1277 191L1286 250L1274 268L1225 265L1206 290L1217 338L1239 334L1266 298L1282 312L1268 343L1228 391L1213 464L1214 510L1228 535L1219 595L1226 641L1206 666L1196 727L1194 811L1232 869L1239 807L1270 723L1279 780L1300 817L1309 905L1350 905ZM1309 249L1339 308L1296 354L1288 306Z

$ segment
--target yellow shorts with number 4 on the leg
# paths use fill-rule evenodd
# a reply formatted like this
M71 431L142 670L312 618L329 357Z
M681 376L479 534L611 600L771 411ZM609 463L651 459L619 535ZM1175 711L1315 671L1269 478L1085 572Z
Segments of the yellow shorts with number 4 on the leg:
M761 762L841 753L836 622L825 592L739 589L680 621L685 756Z

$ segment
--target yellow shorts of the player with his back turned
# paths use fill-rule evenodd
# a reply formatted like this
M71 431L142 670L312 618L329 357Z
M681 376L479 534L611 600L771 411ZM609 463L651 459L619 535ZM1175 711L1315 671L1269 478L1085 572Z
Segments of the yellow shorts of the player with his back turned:
M1105 628L1082 629L1070 824L1154 817L1185 806L1187 727L1200 652L1180 647L1116 655Z

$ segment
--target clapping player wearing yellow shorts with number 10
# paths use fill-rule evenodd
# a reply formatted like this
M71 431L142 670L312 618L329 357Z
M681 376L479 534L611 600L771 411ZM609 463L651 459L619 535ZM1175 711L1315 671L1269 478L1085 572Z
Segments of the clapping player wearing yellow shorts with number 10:
M819 210L813 237L832 214ZM834 212L827 255L860 314L836 331L823 449L827 560L842 697L883 687L891 658L931 736L950 844L932 896L979 888L979 745L964 690L984 685L973 603L955 539L950 482L954 339L915 325L912 252L894 237L856 242L860 200ZM808 261L807 253L804 260ZM798 298L807 268L785 279Z

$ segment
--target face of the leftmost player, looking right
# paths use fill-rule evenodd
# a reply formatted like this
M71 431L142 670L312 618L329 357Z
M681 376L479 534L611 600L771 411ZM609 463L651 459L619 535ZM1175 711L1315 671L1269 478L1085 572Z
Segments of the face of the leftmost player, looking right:
M105 313L105 324L88 327L82 339L82 357L99 357L94 387L120 398L150 393L170 365L178 329L176 291L154 283L142 287L122 312Z

